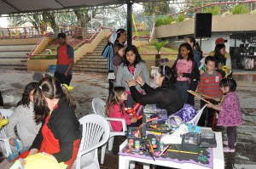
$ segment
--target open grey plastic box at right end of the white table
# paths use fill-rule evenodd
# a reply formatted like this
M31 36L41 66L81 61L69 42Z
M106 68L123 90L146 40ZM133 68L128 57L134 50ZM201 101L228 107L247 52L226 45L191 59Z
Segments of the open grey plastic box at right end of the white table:
M199 146L200 147L211 147L216 148L217 142L215 138L214 132L201 132L199 138Z

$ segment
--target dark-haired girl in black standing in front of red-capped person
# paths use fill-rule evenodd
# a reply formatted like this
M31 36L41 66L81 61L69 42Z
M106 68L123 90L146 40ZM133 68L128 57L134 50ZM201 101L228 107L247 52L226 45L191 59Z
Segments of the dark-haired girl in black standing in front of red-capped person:
M224 71L222 70L222 67L226 65L226 48L224 44L217 44L214 49L214 59L216 60L216 70L222 75L222 77L225 76Z

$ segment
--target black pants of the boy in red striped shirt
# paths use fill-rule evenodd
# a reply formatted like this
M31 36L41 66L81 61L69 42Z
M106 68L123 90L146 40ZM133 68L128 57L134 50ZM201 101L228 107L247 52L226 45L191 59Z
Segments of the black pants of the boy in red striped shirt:
M215 100L212 99L207 99L209 102L211 102L212 104L218 104L218 102L216 102ZM207 104L206 102L204 102L203 100L201 100L201 108ZM205 108L201 114L200 120L198 121L198 126L200 127L205 127L205 121L207 120L207 127L212 127L212 121L214 119L214 115L215 112L217 110L213 110L212 108Z

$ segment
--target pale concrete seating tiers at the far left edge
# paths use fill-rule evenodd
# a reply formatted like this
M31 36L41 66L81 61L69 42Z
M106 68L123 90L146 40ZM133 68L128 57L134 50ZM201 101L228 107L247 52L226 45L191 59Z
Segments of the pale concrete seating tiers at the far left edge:
M0 69L26 70L28 54L35 44L0 45Z

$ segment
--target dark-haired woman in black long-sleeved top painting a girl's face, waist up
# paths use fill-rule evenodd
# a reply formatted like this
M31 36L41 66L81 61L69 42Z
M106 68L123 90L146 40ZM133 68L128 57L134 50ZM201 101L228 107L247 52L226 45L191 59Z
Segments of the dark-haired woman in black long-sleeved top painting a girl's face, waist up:
M146 94L141 94L136 89L136 82L128 82L131 95L137 103L140 104L156 104L159 109L165 109L167 115L172 115L178 110L183 108L183 100L181 99L177 88L174 83L176 82L177 75L168 66L160 65L159 70L156 72L154 81L159 85L157 88L149 87L143 81L141 76L137 76L137 83L140 84Z

